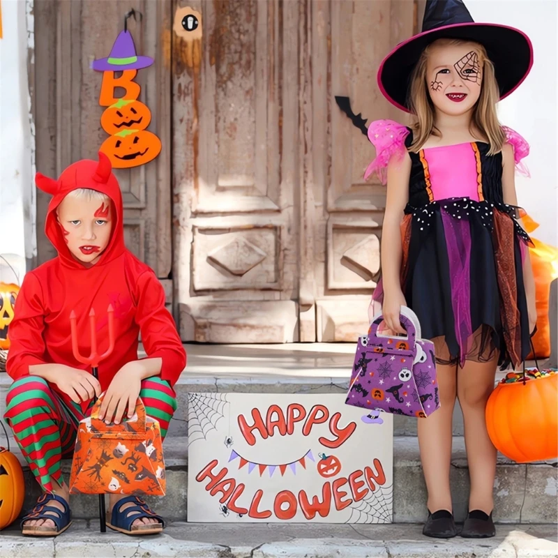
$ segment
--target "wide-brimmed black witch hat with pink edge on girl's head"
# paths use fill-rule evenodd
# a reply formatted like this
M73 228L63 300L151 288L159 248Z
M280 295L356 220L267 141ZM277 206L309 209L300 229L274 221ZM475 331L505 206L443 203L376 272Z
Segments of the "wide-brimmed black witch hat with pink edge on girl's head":
M531 40L523 31L492 23L475 23L462 0L426 0L421 33L400 43L378 70L378 84L396 107L409 112L409 80L421 52L440 38L481 43L495 68L500 98L525 80L533 65Z

